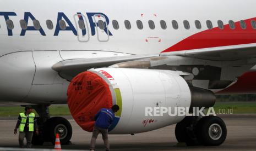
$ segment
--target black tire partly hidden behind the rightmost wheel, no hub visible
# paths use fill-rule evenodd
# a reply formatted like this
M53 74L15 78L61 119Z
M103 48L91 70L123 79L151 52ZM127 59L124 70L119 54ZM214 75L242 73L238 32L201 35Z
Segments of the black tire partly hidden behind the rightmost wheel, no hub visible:
M194 125L198 117L185 117L176 124L175 136L178 142L185 142L187 146L197 146L199 142L194 133Z

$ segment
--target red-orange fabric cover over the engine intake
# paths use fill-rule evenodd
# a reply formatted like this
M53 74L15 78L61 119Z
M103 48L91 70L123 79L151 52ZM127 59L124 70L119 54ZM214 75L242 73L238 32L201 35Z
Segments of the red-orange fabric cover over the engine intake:
M106 81L86 71L72 79L68 86L68 107L74 120L85 131L94 127L94 115L101 108L112 107L112 95Z

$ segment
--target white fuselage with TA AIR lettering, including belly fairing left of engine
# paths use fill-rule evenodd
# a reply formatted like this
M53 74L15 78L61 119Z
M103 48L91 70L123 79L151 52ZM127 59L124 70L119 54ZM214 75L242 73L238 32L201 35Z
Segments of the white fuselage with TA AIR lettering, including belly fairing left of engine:
M66 103L69 82L51 69L55 63L78 58L160 54L181 40L208 30L206 20L217 27L218 20L226 25L230 20L254 18L255 5L253 0L1 0L0 100ZM13 22L12 30L7 27L7 17ZM59 28L58 18L66 22L66 30ZM79 28L81 18L85 30ZM23 30L20 20L27 20L28 28ZM35 30L33 20L39 21L40 30ZM47 20L52 21L53 29L48 29ZM107 32L95 25L99 20L109 20ZM118 21L118 30L113 28L113 20ZM125 27L125 20L130 22L130 30ZM142 30L138 29L137 20L143 22ZM154 30L150 29L149 20L154 21ZM160 26L161 20L166 22L166 29ZM173 28L173 20L177 21L178 29ZM184 20L189 22L189 29L184 28ZM195 27L195 20L200 21L200 29Z

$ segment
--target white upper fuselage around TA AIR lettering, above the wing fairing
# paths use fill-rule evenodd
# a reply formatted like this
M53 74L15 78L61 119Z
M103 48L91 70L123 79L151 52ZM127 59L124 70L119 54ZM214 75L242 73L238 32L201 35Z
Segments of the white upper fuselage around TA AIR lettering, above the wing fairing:
M35 50L96 50L96 51L115 51L128 54L155 54L171 47L195 33L207 30L206 20L213 22L213 27L217 27L217 20L228 24L229 20L234 22L246 20L255 17L256 10L253 0L247 1L1 1L0 12L14 12L15 16L9 16L13 21L13 35L8 36L6 20L0 16L0 56L17 51L35 51ZM25 12L29 12L36 20L40 22L42 30L46 36L42 36L39 31L26 31L25 36L20 36L20 20L24 19ZM68 20L76 28L76 19L74 15L81 13L87 22L86 35L84 37L75 36L73 31L59 31L57 36L56 25L58 24L58 13L64 13ZM86 13L103 13L110 20L108 30L113 36L97 28L92 29L89 16ZM78 17L76 17L78 18ZM63 19L63 18L62 18ZM49 30L46 26L46 20L53 22L53 29ZM64 19L63 19L64 20ZM117 20L119 29L115 30L112 21ZM124 20L129 20L131 29L127 30L124 26ZM143 29L139 30L136 21L143 22ZM148 21L155 22L155 29L149 28ZM160 26L160 20L166 22L167 28L163 30ZM178 22L178 29L172 27L172 20ZM183 21L188 20L190 29L186 30ZM194 21L201 22L201 29L195 27ZM95 20L94 20L95 21ZM97 21L97 18L96 18ZM33 26L32 19L28 19L28 26ZM68 26L68 24L67 24ZM86 26L86 24L85 24ZM249 26L249 25L248 25ZM87 31L87 29L89 31ZM76 28L78 34L80 28ZM95 34L92 36L92 30ZM89 40L88 40L89 39ZM148 39L148 42L146 42ZM161 39L161 42L159 40ZM87 42L83 42L86 40Z

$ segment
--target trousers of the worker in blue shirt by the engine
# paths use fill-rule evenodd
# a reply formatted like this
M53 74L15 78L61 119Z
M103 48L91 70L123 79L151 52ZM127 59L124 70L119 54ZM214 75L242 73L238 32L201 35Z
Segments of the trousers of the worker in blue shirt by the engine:
M92 137L91 137L91 146L90 149L95 149L95 144L97 140L97 136L101 133L102 139L104 141L106 150L110 150L110 143L108 142L108 130L107 129L101 129L100 127L94 126L94 130L92 131Z

